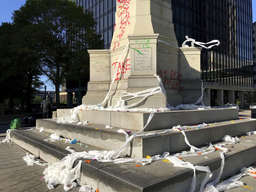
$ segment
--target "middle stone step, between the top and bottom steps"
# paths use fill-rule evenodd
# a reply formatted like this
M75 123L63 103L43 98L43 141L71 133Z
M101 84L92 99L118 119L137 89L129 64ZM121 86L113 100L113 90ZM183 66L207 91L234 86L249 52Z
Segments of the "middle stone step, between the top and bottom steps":
M202 123L202 122L201 122ZM206 142L217 142L225 135L235 137L242 135L248 131L256 130L256 120L242 119L234 121L222 121L216 123L209 123L209 126L200 129L185 130L186 136L191 145L201 146ZM37 119L37 129L44 127L48 133L57 133L65 138L75 139L82 143L99 147L106 150L117 150L126 141L126 137L122 133L118 133L119 128L106 129L102 125L77 125L77 123L60 124L53 119ZM129 135L137 133L135 130L125 129L127 132L131 131ZM163 132L158 130L157 132ZM143 133L150 133L152 131L144 131ZM178 143L178 145L177 145ZM154 146L154 147L153 147ZM147 155L154 156L163 154L165 151L175 153L189 149L185 143L182 133L178 131L171 131L169 133L151 136L135 137L130 142L130 147L127 151L127 156L133 158L142 158Z

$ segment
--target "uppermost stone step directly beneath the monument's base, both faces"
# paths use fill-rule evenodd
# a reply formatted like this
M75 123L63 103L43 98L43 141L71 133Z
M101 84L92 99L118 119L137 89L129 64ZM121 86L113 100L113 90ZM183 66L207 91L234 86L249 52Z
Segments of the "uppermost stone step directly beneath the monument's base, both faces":
M141 130L150 112L79 110L78 119L97 125L110 125L121 129ZM69 109L57 109L57 118L70 116ZM144 131L169 129L176 125L195 125L238 119L238 109L179 110L155 112Z

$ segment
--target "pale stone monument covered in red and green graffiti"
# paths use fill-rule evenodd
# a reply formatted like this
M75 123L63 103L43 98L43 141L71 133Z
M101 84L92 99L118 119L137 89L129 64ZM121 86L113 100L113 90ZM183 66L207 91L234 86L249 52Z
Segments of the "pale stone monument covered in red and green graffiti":
M162 78L171 106L195 103L201 96L201 47L178 47L171 4L164 0L117 0L115 30L110 50L89 50L90 82L83 104L101 103L112 83L104 107L115 106L122 92L135 93L158 87ZM119 57L129 43L129 49ZM129 98L129 97L128 97ZM127 98L126 98L127 99ZM131 99L126 105L138 102ZM207 105L207 103L205 103ZM166 107L163 93L151 95L138 108Z

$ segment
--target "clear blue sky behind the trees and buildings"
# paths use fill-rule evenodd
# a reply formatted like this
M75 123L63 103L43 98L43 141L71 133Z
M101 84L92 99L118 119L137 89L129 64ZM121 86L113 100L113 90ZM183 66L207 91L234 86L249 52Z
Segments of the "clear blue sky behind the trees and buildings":
M21 5L24 5L26 0L0 0L0 23L2 22L12 22L11 16L13 10L19 9ZM256 0L252 0L252 7L253 7L253 22L256 21ZM41 81L45 83L47 86L47 91L54 91L55 87L51 83L47 83L47 78L45 76L41 76Z

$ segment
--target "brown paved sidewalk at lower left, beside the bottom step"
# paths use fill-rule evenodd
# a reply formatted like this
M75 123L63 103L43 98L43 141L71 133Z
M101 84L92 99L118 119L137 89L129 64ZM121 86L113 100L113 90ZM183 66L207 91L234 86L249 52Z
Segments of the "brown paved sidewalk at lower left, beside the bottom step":
M3 134L2 134L3 136ZM0 137L2 141L5 137ZM45 180L40 180L46 167L40 165L27 165L23 157L26 150L14 143L0 143L0 192L46 192L65 191L63 185L55 186L49 190ZM73 192L79 191L79 185Z

